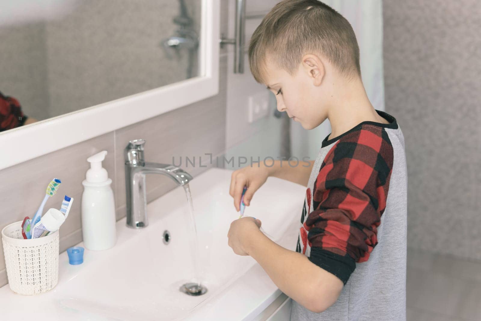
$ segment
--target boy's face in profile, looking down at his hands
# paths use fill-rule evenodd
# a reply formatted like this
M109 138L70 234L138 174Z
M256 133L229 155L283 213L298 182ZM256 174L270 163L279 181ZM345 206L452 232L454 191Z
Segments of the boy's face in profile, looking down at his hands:
M301 123L303 128L312 129L327 118L327 107L319 103L325 100L319 96L320 86L310 76L308 68L308 65L299 64L292 77L267 59L266 86L276 95L278 111L285 111L294 121Z

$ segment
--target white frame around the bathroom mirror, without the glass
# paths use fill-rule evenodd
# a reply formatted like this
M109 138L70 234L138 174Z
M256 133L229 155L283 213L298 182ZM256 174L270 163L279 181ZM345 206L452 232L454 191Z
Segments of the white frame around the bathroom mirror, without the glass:
M202 0L201 76L1 133L0 169L216 95L219 92L219 7L219 0Z

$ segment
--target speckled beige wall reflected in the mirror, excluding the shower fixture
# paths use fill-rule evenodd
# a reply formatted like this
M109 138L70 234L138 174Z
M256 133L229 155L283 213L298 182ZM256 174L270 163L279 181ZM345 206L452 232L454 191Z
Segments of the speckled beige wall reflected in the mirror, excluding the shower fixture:
M186 2L193 28L199 32L200 2ZM181 51L180 59L169 59L162 45L179 27L173 22L179 14L178 1L83 0L68 17L51 21L47 25L50 114L186 79L186 51Z

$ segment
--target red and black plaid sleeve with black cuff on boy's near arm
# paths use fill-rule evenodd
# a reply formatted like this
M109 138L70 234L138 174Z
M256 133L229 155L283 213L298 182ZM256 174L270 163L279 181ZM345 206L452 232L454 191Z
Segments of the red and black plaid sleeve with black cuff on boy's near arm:
M364 125L342 136L320 167L312 193L314 210L304 221L311 243L309 260L344 285L355 262L367 261L378 244L392 163L387 132Z

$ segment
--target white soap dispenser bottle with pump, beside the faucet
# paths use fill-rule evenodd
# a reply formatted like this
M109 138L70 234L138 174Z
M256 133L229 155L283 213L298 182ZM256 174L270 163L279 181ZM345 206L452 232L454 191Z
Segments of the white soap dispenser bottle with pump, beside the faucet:
M87 171L82 194L82 234L84 245L89 250L106 250L115 245L115 203L114 192L102 161L107 151L87 158Z

